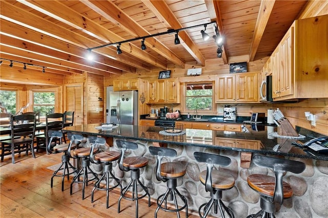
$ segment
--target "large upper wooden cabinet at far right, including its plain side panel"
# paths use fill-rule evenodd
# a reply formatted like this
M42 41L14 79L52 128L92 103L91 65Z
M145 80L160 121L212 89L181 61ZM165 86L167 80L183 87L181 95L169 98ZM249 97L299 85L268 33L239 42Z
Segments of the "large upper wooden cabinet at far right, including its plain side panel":
M328 97L328 15L295 20L271 56L275 101Z

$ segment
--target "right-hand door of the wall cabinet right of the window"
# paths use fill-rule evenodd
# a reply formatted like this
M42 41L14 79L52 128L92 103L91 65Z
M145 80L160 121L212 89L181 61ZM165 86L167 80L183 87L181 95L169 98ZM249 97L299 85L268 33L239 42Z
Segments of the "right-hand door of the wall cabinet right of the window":
M236 101L258 101L257 73L244 73L236 75Z

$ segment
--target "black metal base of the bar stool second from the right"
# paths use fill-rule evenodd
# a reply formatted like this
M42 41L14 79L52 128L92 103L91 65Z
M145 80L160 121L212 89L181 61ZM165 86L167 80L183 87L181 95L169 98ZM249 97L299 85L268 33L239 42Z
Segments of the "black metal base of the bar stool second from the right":
M224 216L224 211L226 211L228 213L230 218L235 217L232 210L229 207L227 207L226 205L224 205L223 202L220 199L213 199L213 198L208 203L202 204L199 207L199 210L198 210L199 216L201 218L207 217L207 215L211 211L211 208L212 208L213 205L214 205L214 213L217 214L218 209L219 209L222 218L226 217L226 216ZM204 208L203 211L202 211L202 208Z

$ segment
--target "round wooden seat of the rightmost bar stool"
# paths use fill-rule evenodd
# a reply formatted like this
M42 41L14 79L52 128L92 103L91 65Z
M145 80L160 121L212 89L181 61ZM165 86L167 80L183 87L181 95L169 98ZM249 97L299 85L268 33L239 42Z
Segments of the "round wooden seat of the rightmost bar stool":
M275 191L275 178L268 175L253 174L247 178L247 182L255 191L267 196L273 197ZM293 195L292 187L282 181L283 198L290 198Z

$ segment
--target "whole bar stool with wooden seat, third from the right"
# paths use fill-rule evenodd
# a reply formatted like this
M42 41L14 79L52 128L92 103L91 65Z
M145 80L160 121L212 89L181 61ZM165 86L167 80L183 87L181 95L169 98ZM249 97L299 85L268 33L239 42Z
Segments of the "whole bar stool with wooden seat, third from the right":
M180 162L166 162L162 163L163 157L175 157L176 150L171 148L164 148L164 147L149 147L149 152L152 155L157 157L157 164L156 164L156 179L158 181L163 181L167 183L167 190L165 193L159 195L157 198L157 208L155 210L155 217L157 217L157 212L160 209L168 212L176 212L177 216L180 217L179 211L186 208L186 217L188 217L188 204L187 199L180 194L177 190L177 179L185 176L187 168L186 165L183 165ZM176 195L180 197L183 202L182 206L178 206ZM170 201L174 202L175 209L168 209L167 201L168 197L170 196ZM163 206L163 203L164 206Z

